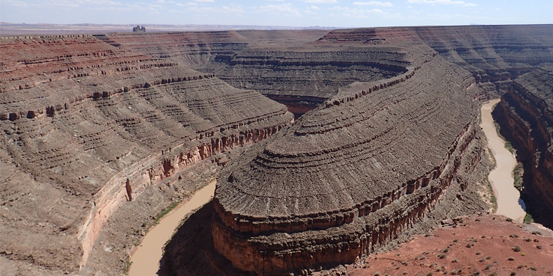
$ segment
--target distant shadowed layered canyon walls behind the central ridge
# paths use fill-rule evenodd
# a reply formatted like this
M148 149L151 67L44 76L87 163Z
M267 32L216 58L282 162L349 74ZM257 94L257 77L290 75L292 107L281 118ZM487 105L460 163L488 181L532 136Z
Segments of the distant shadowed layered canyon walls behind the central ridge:
M469 70L485 88L476 97L491 98L499 97L503 82L553 63L552 37L551 25L332 30L314 43L297 47L269 47L250 39L247 47L215 55L197 68L235 87L256 89L292 106L291 110L309 109L351 81L400 74L393 68L406 66L405 44L416 42Z

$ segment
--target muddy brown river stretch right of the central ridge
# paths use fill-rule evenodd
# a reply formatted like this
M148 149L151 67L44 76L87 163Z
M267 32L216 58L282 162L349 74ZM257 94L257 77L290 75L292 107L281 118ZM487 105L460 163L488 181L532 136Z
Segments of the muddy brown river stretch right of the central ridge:
M495 159L496 168L489 172L489 182L494 188L497 199L497 214L510 217L517 222L523 222L526 215L524 202L520 199L521 193L514 188L513 169L516 166L515 156L505 148L505 141L497 135L491 110L499 99L489 101L482 106L482 123L480 127L488 140Z

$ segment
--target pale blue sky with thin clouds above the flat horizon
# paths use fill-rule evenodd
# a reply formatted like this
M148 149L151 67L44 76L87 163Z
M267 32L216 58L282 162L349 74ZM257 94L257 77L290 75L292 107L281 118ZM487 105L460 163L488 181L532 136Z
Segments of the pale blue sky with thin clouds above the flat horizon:
M0 0L8 23L438 26L553 23L552 0Z

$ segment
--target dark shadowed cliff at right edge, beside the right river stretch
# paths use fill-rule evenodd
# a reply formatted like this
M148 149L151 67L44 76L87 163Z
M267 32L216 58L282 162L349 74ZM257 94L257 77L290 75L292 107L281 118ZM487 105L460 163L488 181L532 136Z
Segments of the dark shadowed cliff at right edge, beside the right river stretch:
M524 164L522 197L528 213L553 227L553 68L516 79L494 110L503 136Z

